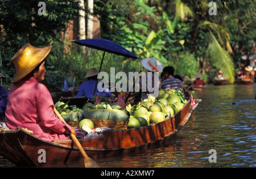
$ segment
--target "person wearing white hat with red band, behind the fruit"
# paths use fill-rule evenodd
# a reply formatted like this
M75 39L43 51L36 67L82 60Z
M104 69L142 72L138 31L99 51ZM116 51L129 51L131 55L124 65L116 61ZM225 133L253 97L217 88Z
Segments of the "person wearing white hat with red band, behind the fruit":
M146 99L147 95L152 95L154 97L158 96L158 91L161 89L161 80L159 73L163 70L163 65L160 63L158 60L155 58L144 58L141 61L141 65L146 69L146 79L145 81L140 80L140 84L143 87L143 83L146 83L146 90L141 92L141 97L142 99ZM151 74L151 85L149 84L152 89L155 91L150 91L148 90L148 78L150 77Z

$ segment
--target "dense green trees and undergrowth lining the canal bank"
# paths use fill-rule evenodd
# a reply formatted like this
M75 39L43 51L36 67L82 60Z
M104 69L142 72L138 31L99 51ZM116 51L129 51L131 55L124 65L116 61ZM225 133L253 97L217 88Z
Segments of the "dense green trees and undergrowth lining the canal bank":
M87 1L85 1L86 7ZM216 5L216 6L215 6ZM243 54L252 54L255 42L255 1L154 1L94 0L101 37L133 52L139 59L105 54L101 71L143 71L140 60L156 58L163 66L174 66L175 74L193 78L202 74L211 82L222 70L230 83L239 70ZM60 91L64 78L72 73L76 87L86 70L100 68L103 52L63 39L61 32L70 19L77 18L78 0L46 1L46 15L38 15L38 1L0 2L2 85L9 89L15 74L11 57L26 42L43 47L52 44L47 57L45 84ZM216 12L216 15L214 13ZM87 10L85 10L85 15Z

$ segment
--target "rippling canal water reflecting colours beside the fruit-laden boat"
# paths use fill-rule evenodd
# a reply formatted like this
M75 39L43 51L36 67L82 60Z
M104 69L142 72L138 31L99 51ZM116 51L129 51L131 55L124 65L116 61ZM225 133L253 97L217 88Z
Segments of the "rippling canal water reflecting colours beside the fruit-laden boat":
M174 138L96 162L104 168L256 167L256 85L207 85L191 93L203 101ZM0 156L0 167L15 165Z

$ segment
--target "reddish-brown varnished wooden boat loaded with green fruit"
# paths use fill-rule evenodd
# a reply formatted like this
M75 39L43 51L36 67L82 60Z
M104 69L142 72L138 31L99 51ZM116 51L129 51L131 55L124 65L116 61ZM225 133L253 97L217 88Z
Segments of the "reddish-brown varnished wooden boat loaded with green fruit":
M79 139L79 141L86 154L94 160L135 151L175 135L188 121L201 100L195 101L196 105L191 108L191 99L189 99L183 109L163 122L136 129L104 131L96 137ZM0 155L22 167L47 167L78 163L84 159L72 140L48 142L20 128L0 130Z

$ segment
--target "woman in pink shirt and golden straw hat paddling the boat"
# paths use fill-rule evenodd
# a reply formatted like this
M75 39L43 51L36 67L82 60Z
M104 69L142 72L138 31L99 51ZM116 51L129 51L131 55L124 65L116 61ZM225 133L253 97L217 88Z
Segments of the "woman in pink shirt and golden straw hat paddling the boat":
M5 121L9 129L25 128L44 140L68 139L68 134L76 131L61 121L54 113L51 94L44 84L46 69L44 59L52 46L36 48L24 45L11 59L16 74L11 84Z

